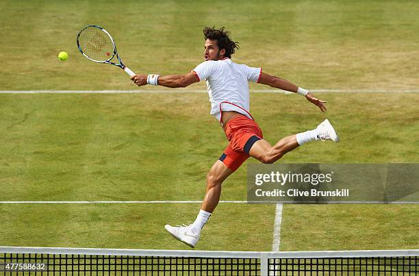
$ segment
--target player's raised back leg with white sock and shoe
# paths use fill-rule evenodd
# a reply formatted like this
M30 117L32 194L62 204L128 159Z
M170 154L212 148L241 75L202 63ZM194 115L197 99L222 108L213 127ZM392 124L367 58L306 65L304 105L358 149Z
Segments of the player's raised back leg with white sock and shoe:
M323 121L314 130L307 130L304 133L285 137L279 140L274 146L271 146L270 143L264 139L256 141L251 147L249 155L262 163L270 164L277 161L285 153L298 148L303 143L318 140L339 141L339 137L333 129L333 126L331 126L329 120Z

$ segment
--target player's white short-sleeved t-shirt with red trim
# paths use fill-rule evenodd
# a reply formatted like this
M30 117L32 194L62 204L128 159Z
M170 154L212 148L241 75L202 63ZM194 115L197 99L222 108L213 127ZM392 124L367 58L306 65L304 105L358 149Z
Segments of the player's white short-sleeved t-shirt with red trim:
M196 66L199 81L206 79L211 102L211 115L221 120L221 111L237 111L252 118L249 113L249 81L258 82L262 68L236 64L226 57L208 60Z

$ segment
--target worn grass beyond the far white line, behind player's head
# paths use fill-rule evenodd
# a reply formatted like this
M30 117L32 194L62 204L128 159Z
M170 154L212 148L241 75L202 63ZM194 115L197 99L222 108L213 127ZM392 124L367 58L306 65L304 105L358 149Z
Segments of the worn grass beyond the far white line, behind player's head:
M92 23L112 33L136 72L189 72L203 61L203 27L216 25L240 42L234 60L303 87L418 87L418 1L2 1L0 8L7 38L0 89L134 89L120 69L78 53L77 33ZM58 61L60 51L68 61Z

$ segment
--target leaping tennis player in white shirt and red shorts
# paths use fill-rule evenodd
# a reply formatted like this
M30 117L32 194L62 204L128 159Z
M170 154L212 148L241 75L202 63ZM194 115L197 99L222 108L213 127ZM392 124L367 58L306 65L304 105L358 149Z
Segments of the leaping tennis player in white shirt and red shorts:
M149 84L171 88L187 87L205 79L210 95L210 114L220 122L229 141L227 148L207 174L205 197L194 223L177 227L165 225L170 234L190 247L195 247L203 225L210 218L220 200L221 184L249 156L262 163L274 163L285 153L303 143L320 140L339 141L338 135L328 120L323 121L313 130L282 138L274 146L263 139L262 130L249 111L249 81L301 94L321 111L326 111L326 102L289 81L262 72L262 68L234 63L231 55L235 49L238 49L238 43L229 38L230 32L225 31L224 27L220 29L205 27L203 33L205 61L188 74L168 76L137 74L131 77L131 80L138 86Z

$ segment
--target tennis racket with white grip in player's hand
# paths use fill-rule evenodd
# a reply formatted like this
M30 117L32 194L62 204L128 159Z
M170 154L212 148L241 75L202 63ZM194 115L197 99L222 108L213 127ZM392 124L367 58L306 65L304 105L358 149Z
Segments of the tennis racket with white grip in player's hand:
M81 29L77 36L77 46L80 53L94 62L100 64L112 64L122 68L129 76L135 76L136 73L129 70L127 66L120 60L114 39L105 29L97 25L88 25ZM118 59L118 63L110 61L114 58Z

